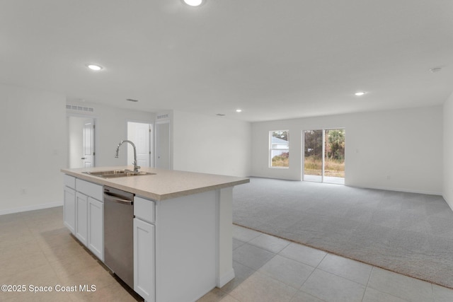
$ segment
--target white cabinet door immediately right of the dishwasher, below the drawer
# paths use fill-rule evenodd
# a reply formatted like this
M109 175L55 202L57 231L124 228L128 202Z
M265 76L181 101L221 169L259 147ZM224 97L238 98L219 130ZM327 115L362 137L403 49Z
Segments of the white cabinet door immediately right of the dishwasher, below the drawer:
M154 225L134 219L134 291L147 302L156 301Z

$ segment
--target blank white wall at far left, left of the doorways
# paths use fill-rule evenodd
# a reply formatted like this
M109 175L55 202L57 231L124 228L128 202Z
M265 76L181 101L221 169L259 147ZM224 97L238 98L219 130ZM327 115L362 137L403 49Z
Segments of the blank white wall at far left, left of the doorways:
M63 204L66 98L0 84L0 214Z

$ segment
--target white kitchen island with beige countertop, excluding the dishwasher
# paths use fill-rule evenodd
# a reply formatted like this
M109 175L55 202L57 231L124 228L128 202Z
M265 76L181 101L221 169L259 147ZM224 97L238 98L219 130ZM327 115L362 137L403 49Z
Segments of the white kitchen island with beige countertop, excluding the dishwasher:
M131 166L62 169L64 224L101 261L103 186L134 194L134 291L146 301L195 301L234 278L232 190L248 178Z

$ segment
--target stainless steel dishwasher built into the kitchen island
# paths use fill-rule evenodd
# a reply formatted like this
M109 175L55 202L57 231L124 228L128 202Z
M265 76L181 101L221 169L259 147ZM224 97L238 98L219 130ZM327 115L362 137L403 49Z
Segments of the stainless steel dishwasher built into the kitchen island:
M134 289L134 194L104 186L104 263Z

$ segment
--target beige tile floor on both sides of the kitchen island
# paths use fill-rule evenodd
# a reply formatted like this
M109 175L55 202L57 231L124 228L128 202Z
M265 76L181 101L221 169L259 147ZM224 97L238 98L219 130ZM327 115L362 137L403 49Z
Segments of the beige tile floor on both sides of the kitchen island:
M56 207L0 216L0 284L25 285L0 291L0 301L142 301L70 235L62 215ZM200 302L453 301L451 289L247 228L234 226L233 236L236 278ZM55 291L80 285L96 291Z

